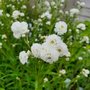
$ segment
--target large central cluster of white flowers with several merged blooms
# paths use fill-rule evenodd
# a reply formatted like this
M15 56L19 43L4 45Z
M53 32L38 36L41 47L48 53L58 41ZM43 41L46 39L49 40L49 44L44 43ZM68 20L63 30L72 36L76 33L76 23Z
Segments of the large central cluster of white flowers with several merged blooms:
M55 34L47 36L43 44L34 43L31 52L34 57L47 63L56 62L62 56L70 56L67 45Z

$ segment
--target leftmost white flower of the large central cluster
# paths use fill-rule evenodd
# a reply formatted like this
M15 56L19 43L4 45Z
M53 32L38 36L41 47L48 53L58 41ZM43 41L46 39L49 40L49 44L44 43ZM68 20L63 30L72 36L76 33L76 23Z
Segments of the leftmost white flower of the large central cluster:
M41 44L34 43L31 46L31 52L32 52L33 56L36 58L40 58L40 50L41 50Z

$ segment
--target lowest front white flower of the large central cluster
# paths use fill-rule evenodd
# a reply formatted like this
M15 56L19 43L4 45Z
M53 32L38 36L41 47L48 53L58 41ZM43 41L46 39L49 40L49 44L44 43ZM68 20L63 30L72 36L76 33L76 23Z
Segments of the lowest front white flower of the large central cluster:
M42 44L40 58L43 61L52 64L58 60L59 53L56 49L50 47L47 43L44 43Z

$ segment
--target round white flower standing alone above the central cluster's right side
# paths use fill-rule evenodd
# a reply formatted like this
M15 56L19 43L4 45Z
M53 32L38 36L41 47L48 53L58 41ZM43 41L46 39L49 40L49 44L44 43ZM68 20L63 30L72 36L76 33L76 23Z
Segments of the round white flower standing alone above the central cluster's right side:
M67 24L64 21L59 21L55 24L55 29L54 31L58 35L62 35L67 32Z

